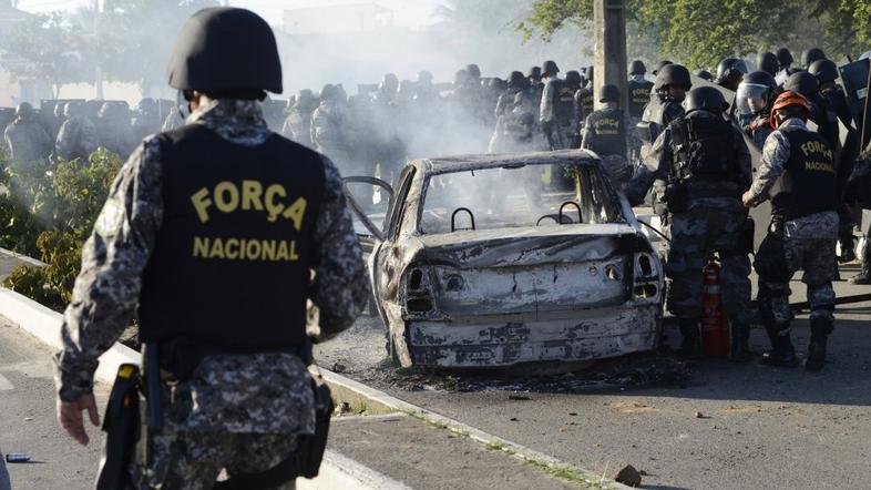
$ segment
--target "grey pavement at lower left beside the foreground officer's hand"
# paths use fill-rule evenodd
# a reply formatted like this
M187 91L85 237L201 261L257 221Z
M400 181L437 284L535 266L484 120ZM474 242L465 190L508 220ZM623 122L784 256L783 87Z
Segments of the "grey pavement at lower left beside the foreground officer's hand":
M91 443L65 436L54 418L51 350L0 318L0 452L30 452L25 463L0 461L0 490L92 488L103 432L89 425ZM107 387L96 386L103 407ZM102 416L102 414L101 414Z

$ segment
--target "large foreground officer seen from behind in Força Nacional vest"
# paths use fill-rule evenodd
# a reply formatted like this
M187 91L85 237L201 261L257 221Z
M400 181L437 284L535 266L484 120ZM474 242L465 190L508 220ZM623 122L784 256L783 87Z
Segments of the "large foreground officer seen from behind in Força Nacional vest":
M137 313L166 384L135 487L212 488L222 469L259 473L312 433L311 379L296 354L306 300L324 340L352 324L367 280L336 167L263 120L258 100L281 92L268 24L201 10L168 72L193 112L136 149L84 246L55 356L58 414L88 443L98 357Z

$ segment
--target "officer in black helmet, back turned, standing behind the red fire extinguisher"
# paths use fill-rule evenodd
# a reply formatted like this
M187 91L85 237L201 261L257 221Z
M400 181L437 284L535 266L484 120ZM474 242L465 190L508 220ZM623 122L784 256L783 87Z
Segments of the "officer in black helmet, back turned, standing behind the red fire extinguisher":
M741 194L750 186L750 153L740 132L723 118L728 106L719 90L700 86L689 92L687 114L660 134L626 188L632 205L641 204L655 180L668 183L672 244L665 272L670 279L667 307L677 316L680 354L700 349L701 269L718 252L724 305L731 323L735 360L749 357L750 259L752 231ZM750 243L748 243L750 242Z

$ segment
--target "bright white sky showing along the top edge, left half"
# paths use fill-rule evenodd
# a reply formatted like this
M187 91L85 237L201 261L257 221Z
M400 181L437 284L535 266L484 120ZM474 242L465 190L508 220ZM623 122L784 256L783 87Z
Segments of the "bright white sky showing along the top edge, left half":
M51 12L70 10L94 0L19 0L18 8L28 12ZM234 7L254 10L271 24L280 24L285 9L319 7L327 4L378 3L396 12L399 25L417 28L431 22L432 10L440 0L229 0Z

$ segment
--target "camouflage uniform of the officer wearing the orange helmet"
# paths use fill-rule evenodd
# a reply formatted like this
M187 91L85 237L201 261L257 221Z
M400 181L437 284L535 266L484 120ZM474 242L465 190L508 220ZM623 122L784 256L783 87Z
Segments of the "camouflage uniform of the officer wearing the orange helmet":
M780 124L780 129L798 126L807 131L803 121L790 119ZM789 140L780 131L775 131L766 141L762 149L762 160L756 181L750 187L750 197L754 204L769 198L769 193L775 183L783 175L786 164L790 156ZM782 254L786 257L786 270L789 277L782 279L759 278L759 299L761 302L762 317L777 329L777 335L788 337L792 318L789 307L789 278L798 270L805 274L801 280L808 286L808 303L810 303L811 325L834 321L834 289L831 282L837 277L836 243L838 241L838 213L834 211L816 213L809 216L787 221L782 226ZM766 243L768 242L768 243ZM771 245L771 237L767 237L757 253L757 263L764 255L764 249ZM759 270L757 265L757 272ZM768 326L768 325L767 325ZM829 331L826 331L828 335Z

